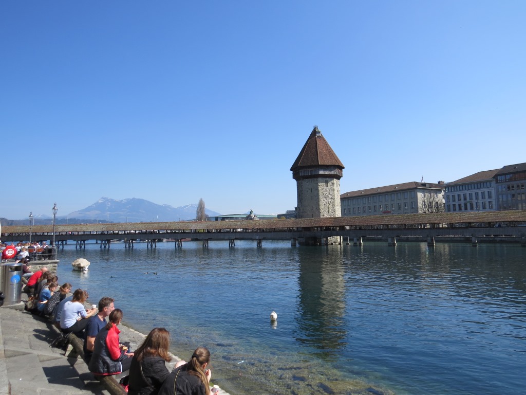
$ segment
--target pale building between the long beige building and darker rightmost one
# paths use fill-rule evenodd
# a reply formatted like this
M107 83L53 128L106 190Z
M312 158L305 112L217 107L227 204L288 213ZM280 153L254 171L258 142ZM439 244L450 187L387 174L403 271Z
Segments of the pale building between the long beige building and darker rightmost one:
M446 212L459 211L495 211L494 176L497 170L486 170L471 174L446 185Z

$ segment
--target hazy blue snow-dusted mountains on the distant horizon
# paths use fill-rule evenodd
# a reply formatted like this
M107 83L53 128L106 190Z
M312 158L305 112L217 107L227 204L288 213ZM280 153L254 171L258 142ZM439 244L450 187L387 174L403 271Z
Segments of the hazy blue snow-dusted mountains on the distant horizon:
M156 204L148 200L131 199L115 200L101 197L97 202L83 210L69 213L68 218L79 220L96 220L99 222L170 222L188 221L196 218L197 203L173 207L169 204ZM206 209L207 215L220 215ZM64 218L64 217L63 217Z

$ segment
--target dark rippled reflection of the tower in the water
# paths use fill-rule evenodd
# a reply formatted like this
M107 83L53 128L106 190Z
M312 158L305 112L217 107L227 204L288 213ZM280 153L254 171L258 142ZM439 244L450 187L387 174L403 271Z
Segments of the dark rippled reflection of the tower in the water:
M347 337L342 262L325 249L302 249L299 270L296 340L323 350L323 358L335 356Z

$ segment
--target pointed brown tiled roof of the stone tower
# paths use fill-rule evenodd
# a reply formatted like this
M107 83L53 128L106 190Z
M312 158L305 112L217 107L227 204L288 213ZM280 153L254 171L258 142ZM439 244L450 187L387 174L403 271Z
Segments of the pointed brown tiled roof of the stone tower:
M341 169L345 169L343 163L341 163L338 156L332 151L329 143L327 143L327 140L325 140L325 137L321 134L318 126L312 129L290 171L294 172L300 167L316 166L339 166Z

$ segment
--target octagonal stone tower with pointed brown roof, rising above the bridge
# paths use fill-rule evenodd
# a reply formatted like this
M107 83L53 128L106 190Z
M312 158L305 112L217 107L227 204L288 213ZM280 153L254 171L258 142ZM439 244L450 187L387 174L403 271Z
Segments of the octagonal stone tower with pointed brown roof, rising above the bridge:
M343 169L345 166L315 126L290 168L298 188L297 218L341 216Z

